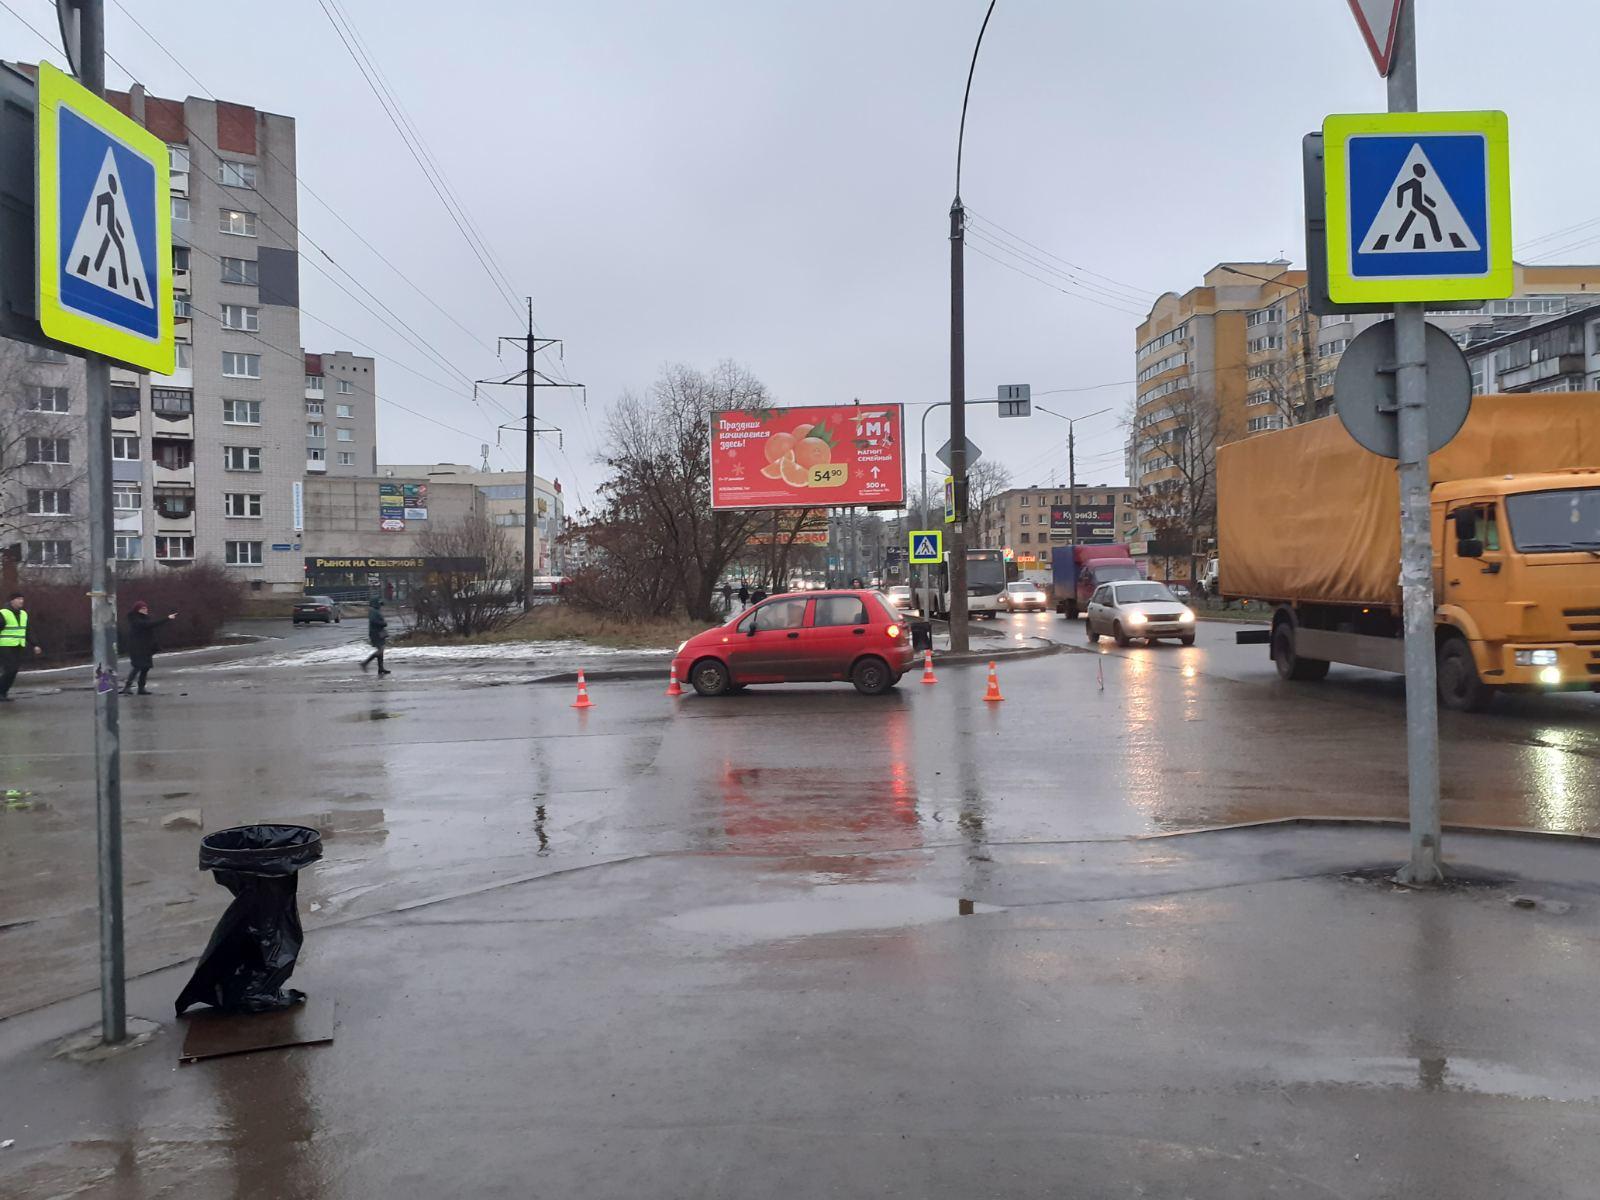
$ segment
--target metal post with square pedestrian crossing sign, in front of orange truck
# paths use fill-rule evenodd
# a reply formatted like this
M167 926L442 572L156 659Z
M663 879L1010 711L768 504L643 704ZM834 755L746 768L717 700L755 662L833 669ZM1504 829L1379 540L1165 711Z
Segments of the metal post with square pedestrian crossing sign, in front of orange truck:
M1411 856L1400 882L1437 883L1438 691L1429 510L1429 354L1424 304L1512 291L1504 114L1418 114L1416 14L1405 0L1352 0L1389 115L1323 123L1328 294L1394 302L1400 590L1405 618ZM1374 19L1389 18L1384 38ZM1387 53L1386 53L1387 51ZM1342 370L1342 368L1341 368Z

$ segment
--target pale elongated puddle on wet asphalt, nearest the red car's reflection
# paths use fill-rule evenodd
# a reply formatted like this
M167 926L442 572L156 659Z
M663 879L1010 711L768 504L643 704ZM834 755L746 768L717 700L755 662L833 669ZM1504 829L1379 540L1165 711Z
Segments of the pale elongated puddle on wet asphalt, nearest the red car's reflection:
M694 909L669 917L667 925L685 933L779 941L856 930L898 930L990 912L1005 909L898 883L850 883L814 888L794 899Z

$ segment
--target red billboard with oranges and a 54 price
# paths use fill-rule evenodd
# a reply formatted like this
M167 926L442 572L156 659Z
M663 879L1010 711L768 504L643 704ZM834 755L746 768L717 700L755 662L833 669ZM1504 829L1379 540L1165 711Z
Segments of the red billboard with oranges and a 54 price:
M714 411L710 506L902 506L902 427L899 405Z

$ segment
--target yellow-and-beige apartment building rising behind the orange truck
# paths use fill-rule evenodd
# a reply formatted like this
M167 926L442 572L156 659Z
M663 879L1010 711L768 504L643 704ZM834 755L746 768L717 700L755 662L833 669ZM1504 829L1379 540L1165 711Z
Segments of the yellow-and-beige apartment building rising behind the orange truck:
M1600 267L1518 266L1510 299L1427 318L1470 349L1597 301ZM1382 314L1317 317L1307 306L1306 272L1283 261L1219 262L1200 286L1163 294L1134 334L1130 482L1181 506L1211 486L1219 445L1333 413L1333 379L1346 347L1381 320ZM1208 533L1195 531L1192 554L1205 550ZM1138 541L1154 536L1142 523Z

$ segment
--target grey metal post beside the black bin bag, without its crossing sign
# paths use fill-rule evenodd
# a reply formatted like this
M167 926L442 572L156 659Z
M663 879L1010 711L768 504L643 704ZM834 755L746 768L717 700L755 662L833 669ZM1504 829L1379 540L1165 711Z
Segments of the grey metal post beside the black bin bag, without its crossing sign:
M67 62L106 96L104 0L58 0ZM77 16L77 40L74 22ZM40 246L40 253L45 248ZM112 566L110 363L83 355L90 477L90 634L94 648L94 826L99 854L101 1042L128 1037L122 930L122 734L117 720L117 576Z

